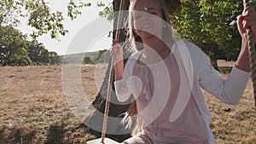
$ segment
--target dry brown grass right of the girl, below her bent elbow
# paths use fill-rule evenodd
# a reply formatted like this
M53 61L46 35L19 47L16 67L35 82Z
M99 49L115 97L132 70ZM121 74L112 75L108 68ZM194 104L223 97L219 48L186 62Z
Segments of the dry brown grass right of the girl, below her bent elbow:
M218 60L220 67L231 67L234 64L234 62ZM225 78L227 76L224 74ZM256 143L256 109L251 79L237 106L225 105L207 92L204 93L207 95L207 102L212 112L211 127L217 143Z

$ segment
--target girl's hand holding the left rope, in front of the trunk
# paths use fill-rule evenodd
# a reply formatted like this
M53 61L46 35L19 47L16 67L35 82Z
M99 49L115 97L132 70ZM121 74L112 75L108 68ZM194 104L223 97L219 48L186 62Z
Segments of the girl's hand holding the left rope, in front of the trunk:
M123 48L119 43L113 43L110 49L110 55L113 57L114 64L123 60Z

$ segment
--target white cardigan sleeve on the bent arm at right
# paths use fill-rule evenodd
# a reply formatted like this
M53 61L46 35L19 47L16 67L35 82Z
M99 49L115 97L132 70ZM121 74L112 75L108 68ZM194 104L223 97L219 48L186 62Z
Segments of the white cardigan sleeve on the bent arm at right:
M210 59L206 54L201 51L198 57L201 58L201 60L197 60L201 88L226 104L238 104L251 73L241 71L234 66L229 77L225 79L209 64Z

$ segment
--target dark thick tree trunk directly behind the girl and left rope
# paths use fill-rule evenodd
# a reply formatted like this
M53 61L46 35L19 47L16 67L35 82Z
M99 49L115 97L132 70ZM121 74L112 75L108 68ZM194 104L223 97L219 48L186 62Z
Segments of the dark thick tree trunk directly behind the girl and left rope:
M125 8L124 10L127 10L129 7L129 1L124 1L125 2ZM113 0L113 11L118 11L119 10L119 5L120 5L120 0ZM118 15L114 14L114 19L113 19L113 37L115 37L115 29L117 27L117 19ZM122 19L122 24L127 24L124 22L124 20L127 20L126 14L121 17ZM114 38L113 38L114 39ZM119 43L125 42L127 39L125 35L125 29L122 29L119 35ZM129 45L128 43L124 44L124 58L127 57L127 55L131 55L131 49L128 49ZM109 70L110 70L110 62L108 63L108 70L106 72L105 78L102 83L102 87L100 89L100 92L98 95L96 95L95 101L92 102L92 105L96 107L96 111L90 116L90 118L87 118L85 120L84 124L90 125L91 131L94 135L97 137L101 136L101 131L102 130L102 119L103 119L103 114L105 111L105 103L106 103L106 96L107 96L107 90L108 90L108 77L109 77ZM114 77L114 76L113 76ZM122 114L124 114L128 107L129 104L121 103L117 100L117 97L114 93L114 86L112 85L112 94L111 94L111 102L109 106L109 117L113 118L119 118L119 121L113 121L109 120L108 117L108 126L107 126L107 137L115 140L115 141L124 141L125 139L130 137L131 130L130 129L125 129L124 124L120 124L120 119L123 117ZM122 116L120 116L122 115ZM115 134L115 135L109 135L109 134ZM121 135L117 135L121 134Z

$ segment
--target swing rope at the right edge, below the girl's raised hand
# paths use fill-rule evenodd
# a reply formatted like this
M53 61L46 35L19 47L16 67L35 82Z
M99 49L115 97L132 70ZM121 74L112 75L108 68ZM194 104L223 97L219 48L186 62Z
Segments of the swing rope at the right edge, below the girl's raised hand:
M251 0L244 0L244 6L248 7L253 4ZM255 55L255 43L253 42L253 31L251 27L247 28L247 41L249 44L250 63L252 69L252 80L253 80L253 95L254 95L254 106L256 107L256 55Z

